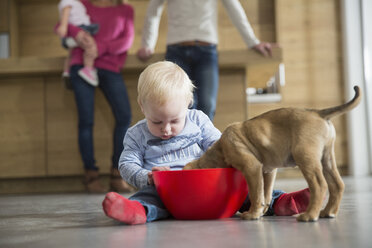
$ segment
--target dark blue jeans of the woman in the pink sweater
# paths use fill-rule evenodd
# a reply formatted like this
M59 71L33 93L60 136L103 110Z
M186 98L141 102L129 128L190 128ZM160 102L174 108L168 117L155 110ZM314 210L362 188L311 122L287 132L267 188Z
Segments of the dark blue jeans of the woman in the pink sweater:
M96 88L78 75L82 66L74 65L70 69L71 83L75 93L78 110L78 138L80 154L87 170L98 170L94 158L93 124L94 95ZM131 108L127 89L120 73L99 69L99 88L106 97L115 117L113 134L112 167L117 168L123 151L123 139L131 122Z

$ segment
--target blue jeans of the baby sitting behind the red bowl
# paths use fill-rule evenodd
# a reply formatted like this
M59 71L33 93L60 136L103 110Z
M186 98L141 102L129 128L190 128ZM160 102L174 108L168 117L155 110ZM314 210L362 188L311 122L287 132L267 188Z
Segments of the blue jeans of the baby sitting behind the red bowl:
M273 198L271 200L269 210L266 212L265 215L274 215L273 204L275 200L283 193L285 192L282 190L273 190ZM166 219L172 216L164 206L154 186L147 186L139 190L137 193L129 197L129 200L138 201L139 203L142 204L142 206L146 208L147 222ZM248 195L243 205L238 211L239 212L248 211L250 206L251 202L249 200Z

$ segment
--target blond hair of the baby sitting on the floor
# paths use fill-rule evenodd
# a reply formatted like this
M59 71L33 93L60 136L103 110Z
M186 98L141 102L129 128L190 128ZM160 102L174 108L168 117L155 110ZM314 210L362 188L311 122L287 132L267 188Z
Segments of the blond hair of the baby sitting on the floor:
M146 67L138 79L138 102L150 101L159 106L169 99L184 98L193 103L195 86L181 67L173 62L160 61Z

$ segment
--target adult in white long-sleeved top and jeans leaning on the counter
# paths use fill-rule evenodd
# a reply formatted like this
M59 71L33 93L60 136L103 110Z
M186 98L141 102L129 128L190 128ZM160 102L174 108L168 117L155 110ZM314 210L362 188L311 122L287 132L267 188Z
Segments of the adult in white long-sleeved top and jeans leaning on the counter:
M147 60L154 53L159 22L165 0L150 0L137 56ZM271 55L271 44L260 42L238 0L222 0L244 42L264 56ZM217 102L218 70L218 0L168 0L168 35L166 60L177 63L196 86L194 108L211 120Z

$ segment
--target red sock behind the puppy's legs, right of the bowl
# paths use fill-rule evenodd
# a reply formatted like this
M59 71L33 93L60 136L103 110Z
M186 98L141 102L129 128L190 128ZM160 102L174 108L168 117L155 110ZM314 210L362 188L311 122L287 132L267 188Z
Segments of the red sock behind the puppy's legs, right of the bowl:
M309 188L292 193L284 193L275 200L274 213L278 216L291 216L305 212L309 201Z

